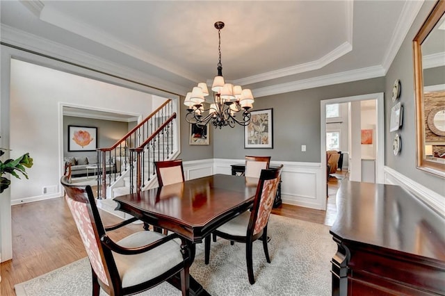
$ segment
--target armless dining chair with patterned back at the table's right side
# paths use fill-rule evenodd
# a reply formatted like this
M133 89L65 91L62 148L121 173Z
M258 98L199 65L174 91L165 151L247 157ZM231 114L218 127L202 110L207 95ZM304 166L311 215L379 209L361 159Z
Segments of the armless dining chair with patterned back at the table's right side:
M245 259L248 267L248 277L250 284L255 283L252 266L252 244L255 240L261 238L263 241L264 254L266 261L270 263L268 252L267 225L272 211L275 195L277 195L278 183L280 183L283 165L280 167L261 170L257 192L255 193L252 211L245 211L241 215L234 217L222 226L218 227L213 233L216 236L230 240L232 243L245 243ZM204 239L204 262L209 264L211 238L207 236Z

